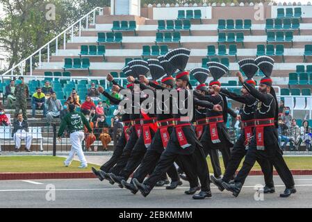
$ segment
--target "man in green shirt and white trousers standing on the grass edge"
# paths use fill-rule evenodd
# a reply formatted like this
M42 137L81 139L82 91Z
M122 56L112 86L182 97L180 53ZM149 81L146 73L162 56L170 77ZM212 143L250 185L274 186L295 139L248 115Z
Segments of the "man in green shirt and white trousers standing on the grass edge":
M65 167L68 167L72 162L75 153L77 153L81 165L79 168L87 168L88 162L85 160L85 155L81 147L81 142L85 138L84 126L88 129L90 136L93 137L92 128L90 123L81 112L75 111L76 106L74 104L69 105L69 113L64 117L62 123L60 123L60 129L58 130L58 141L61 141L61 136L67 126L67 130L70 133L70 143L72 149L69 152L69 156L64 161Z

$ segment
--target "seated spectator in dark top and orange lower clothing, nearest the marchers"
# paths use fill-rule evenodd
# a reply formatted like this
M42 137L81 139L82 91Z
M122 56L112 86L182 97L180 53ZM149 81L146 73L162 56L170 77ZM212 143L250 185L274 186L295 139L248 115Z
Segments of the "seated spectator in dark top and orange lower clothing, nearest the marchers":
M107 151L108 144L111 142L111 137L108 132L108 123L106 122L106 117L101 115L97 122L95 123L95 132L97 137L101 140L104 151Z

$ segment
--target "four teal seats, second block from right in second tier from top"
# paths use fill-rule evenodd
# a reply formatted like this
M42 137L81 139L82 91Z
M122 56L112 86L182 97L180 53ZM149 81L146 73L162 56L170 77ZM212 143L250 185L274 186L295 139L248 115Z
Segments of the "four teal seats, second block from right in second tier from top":
M217 20L217 31L219 30L242 30L246 29L252 31L251 19L236 19L235 24L233 19L219 19Z

